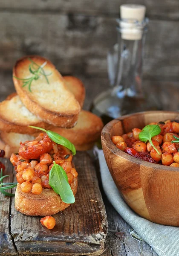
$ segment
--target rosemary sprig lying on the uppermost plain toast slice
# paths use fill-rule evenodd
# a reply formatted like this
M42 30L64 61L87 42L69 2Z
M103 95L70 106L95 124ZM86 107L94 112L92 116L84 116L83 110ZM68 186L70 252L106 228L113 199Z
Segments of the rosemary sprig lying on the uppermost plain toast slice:
M28 58L29 61L31 62L31 64L29 65L29 72L33 75L29 78L19 78L17 76L13 76L15 79L21 80L23 81L23 86L28 86L29 91L32 93L31 90L31 84L32 81L34 80L38 80L40 78L40 75L44 76L46 79L46 82L49 84L49 79L47 78L47 76L52 75L52 73L46 74L45 71L43 70L43 67L45 67L45 65L47 64L47 61L45 61L41 66L39 66L37 63L35 63L34 61L32 61L31 58Z

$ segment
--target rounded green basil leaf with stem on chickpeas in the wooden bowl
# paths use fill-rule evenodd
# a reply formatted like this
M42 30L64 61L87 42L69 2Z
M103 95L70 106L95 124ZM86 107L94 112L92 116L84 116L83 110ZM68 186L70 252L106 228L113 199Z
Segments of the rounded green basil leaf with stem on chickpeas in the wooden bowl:
M152 142L152 137L160 133L161 133L161 128L159 125L146 125L142 129L142 131L139 133L139 140L143 141L144 143L146 143L148 140L150 144L153 146L153 148L156 150L156 152L160 154Z

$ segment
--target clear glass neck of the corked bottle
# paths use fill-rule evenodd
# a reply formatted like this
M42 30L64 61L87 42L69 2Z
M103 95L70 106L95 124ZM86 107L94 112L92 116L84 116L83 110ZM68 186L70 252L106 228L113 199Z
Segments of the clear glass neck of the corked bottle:
M119 24L120 27L117 27L118 62L112 93L119 98L124 96L143 97L142 67L147 32L146 23L120 20Z

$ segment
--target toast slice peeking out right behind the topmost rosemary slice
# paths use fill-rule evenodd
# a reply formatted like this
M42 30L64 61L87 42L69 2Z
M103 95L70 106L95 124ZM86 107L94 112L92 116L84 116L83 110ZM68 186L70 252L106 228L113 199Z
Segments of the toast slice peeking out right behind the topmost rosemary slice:
M63 76L66 81L66 86L75 95L75 99L80 103L83 108L85 99L85 87L80 79L75 76Z

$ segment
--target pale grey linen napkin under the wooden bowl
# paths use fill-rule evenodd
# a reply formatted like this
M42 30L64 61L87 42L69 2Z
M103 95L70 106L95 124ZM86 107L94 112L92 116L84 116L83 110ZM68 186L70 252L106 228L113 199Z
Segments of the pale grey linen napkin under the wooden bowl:
M118 192L102 150L98 158L104 192L116 211L159 256L179 256L179 228L155 224L133 212Z

